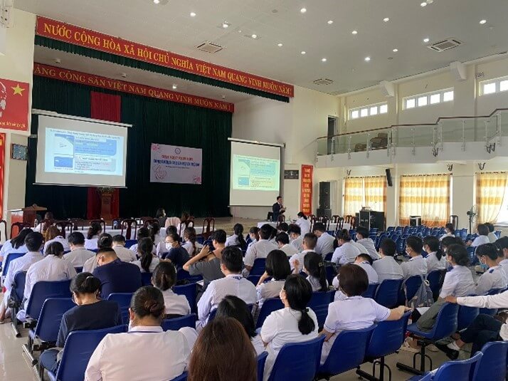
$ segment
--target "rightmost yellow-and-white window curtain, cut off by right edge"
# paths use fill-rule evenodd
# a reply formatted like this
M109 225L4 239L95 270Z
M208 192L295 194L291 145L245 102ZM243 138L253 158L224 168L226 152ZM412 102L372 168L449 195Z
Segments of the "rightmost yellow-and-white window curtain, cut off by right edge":
M497 220L507 188L507 172L476 174L477 221L480 223Z

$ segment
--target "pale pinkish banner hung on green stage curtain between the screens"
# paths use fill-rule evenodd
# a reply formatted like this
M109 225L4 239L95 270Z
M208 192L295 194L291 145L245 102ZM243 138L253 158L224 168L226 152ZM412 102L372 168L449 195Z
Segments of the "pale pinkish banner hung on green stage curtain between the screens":
M201 149L152 143L151 152L150 182L201 184Z

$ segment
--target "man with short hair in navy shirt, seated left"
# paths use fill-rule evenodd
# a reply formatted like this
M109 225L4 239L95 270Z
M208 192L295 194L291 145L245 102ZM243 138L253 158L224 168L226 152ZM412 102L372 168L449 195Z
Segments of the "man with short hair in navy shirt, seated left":
M139 267L120 261L110 247L97 251L97 268L93 276L100 279L103 299L107 299L110 293L133 293L141 287Z

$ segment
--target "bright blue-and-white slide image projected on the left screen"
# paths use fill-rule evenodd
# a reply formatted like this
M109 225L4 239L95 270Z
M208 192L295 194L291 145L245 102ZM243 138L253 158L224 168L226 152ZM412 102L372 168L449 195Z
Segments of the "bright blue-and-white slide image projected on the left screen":
M124 137L46 128L44 171L122 176Z

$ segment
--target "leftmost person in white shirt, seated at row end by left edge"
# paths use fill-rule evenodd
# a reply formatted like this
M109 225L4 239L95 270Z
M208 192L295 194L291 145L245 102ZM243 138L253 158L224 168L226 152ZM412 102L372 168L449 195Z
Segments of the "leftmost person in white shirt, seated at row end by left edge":
M20 258L14 259L9 264L9 269L7 270L6 277L4 280L4 287L6 291L4 293L4 298L0 304L0 321L5 318L9 318L11 315L10 308L7 308L9 305L9 298L11 296L12 285L14 283L14 276L18 271L27 271L33 263L41 261L43 256L41 254L41 249L43 247L43 235L41 233L37 233L32 231L30 234L26 236L25 244L28 249L28 253Z

